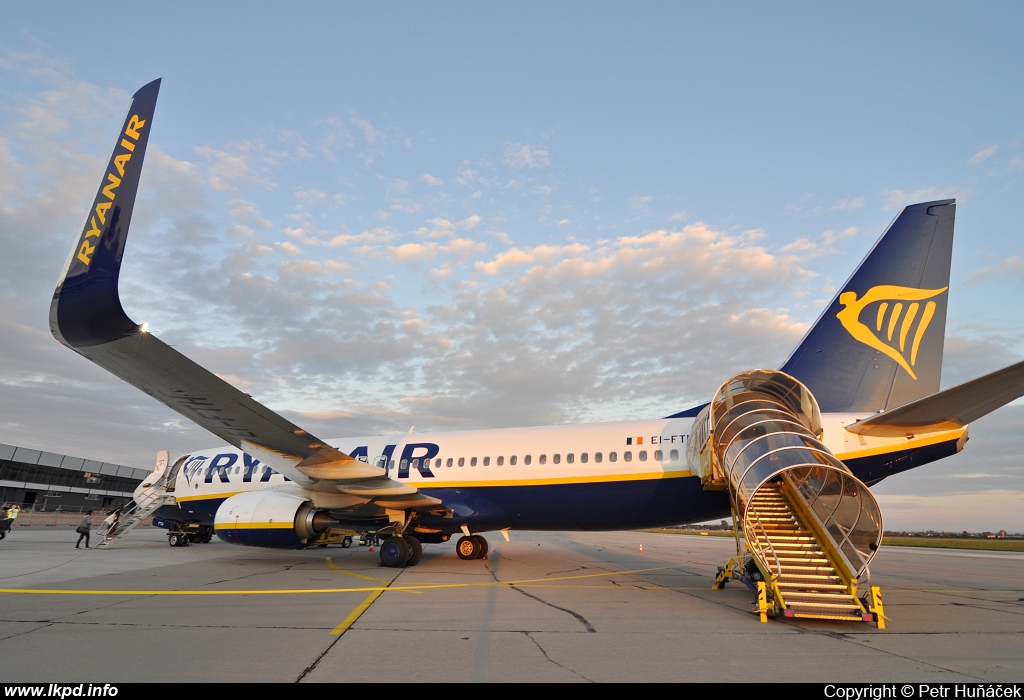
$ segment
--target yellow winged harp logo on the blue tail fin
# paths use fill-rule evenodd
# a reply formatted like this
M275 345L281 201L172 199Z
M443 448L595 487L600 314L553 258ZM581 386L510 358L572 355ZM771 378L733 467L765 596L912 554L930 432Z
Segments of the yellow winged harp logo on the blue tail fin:
M893 358L911 379L916 380L913 365L918 362L918 350L936 307L934 301L929 301L922 310L921 302L937 297L947 289L915 290L912 287L880 285L872 287L860 299L857 299L856 292L844 292L839 297L839 303L844 308L836 317L855 340ZM868 325L860 315L873 304L878 306L873 318L868 314Z

